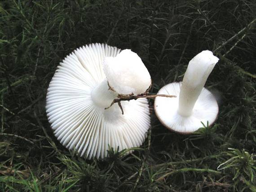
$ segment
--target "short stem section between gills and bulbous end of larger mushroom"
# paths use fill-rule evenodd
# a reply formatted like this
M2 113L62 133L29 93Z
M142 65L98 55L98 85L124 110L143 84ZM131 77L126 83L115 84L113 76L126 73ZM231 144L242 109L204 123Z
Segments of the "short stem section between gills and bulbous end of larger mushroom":
M107 108L117 98L117 93L110 90L107 79L104 79L97 87L93 88L91 97L99 108Z

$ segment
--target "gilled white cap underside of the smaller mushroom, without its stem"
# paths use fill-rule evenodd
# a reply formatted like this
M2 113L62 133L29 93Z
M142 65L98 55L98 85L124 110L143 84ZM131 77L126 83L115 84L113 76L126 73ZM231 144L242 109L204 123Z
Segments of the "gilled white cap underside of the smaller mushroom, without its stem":
M156 97L154 111L159 121L168 129L183 134L189 134L200 127L202 122L211 125L218 114L218 104L215 97L206 88L203 88L198 100L195 102L192 115L183 117L178 113L179 93L182 82L170 83L162 87L157 94L176 95L177 97Z

